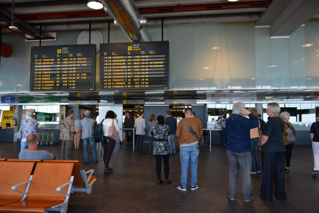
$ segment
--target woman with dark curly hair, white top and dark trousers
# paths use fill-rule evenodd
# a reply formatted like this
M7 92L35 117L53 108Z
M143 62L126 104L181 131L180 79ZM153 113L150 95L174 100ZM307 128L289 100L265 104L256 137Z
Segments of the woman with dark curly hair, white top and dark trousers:
M103 126L103 161L104 161L104 175L113 173L113 169L109 167L109 163L111 160L111 155L115 147L115 141L108 137L108 128L112 126L112 123L114 123L114 126L116 128L116 131L119 132L120 128L118 127L117 122L114 120L115 113L112 110L107 111L105 115L105 119L103 120L102 126Z

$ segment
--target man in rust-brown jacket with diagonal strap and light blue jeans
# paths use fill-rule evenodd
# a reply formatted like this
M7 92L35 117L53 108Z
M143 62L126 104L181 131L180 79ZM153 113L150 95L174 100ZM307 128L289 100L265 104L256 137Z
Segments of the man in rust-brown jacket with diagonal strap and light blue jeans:
M188 166L191 165L191 190L198 189L197 185L197 166L199 155L199 138L203 135L202 122L192 116L192 109L185 109L185 118L180 121L177 126L176 136L179 137L179 155L181 158L182 172L181 172L181 185L177 186L178 190L186 191ZM191 133L185 123L193 129L196 136Z

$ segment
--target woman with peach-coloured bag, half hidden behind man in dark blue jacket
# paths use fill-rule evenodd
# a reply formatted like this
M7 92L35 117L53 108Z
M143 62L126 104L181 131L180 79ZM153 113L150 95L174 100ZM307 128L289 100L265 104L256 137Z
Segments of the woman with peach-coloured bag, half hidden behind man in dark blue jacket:
M258 116L257 109L251 108L249 109L249 111L253 113L253 115L255 115L256 117ZM258 119L258 122L259 122L259 119ZM252 144L252 151L251 151L252 152L252 170L250 174L261 173L262 171L262 168L260 166L259 155L258 155L259 129L260 129L260 122L258 127L250 130L250 141Z

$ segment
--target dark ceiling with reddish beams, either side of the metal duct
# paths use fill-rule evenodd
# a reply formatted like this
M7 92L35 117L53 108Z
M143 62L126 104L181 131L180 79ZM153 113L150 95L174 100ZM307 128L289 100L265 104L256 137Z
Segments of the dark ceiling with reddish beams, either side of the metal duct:
M15 0L14 15L45 31L107 28L113 20L103 9L87 7L87 0ZM148 24L255 21L271 27L270 36L288 36L311 18L318 18L319 0L135 0ZM12 11L12 0L0 0ZM0 24L8 27L0 14ZM5 29L4 29L5 30Z

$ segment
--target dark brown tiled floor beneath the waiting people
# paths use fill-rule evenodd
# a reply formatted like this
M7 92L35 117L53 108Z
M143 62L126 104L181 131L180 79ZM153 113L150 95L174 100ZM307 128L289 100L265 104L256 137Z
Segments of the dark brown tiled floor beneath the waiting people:
M60 144L39 147L60 158ZM148 152L144 144L143 152ZM0 158L18 158L18 143L0 143ZM153 156L138 156L132 145L120 147L117 143L110 167L114 173L103 175L104 164L98 151L99 163L95 164L91 153L90 163L82 163L83 169L94 169L97 181L92 194L74 193L70 196L68 213L318 213L319 176L313 177L313 153L311 146L296 146L293 149L291 171L286 172L288 199L265 202L259 197L261 175L252 175L255 201L243 201L239 176L235 201L227 199L228 159L225 147L215 145L212 151L201 147L198 163L197 190L179 191L180 158L178 152L171 155L171 185L157 185L155 159ZM83 162L83 150L73 151L72 159ZM163 165L162 165L163 167ZM3 175L3 174L2 174ZM57 174L58 175L58 174ZM162 172L164 179L164 173ZM188 180L190 177L188 177ZM43 180L45 181L45 180Z

